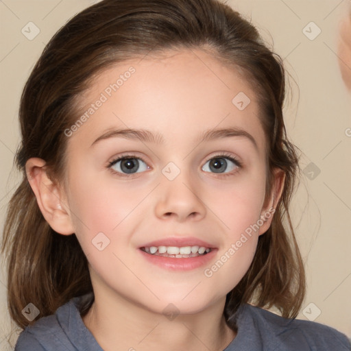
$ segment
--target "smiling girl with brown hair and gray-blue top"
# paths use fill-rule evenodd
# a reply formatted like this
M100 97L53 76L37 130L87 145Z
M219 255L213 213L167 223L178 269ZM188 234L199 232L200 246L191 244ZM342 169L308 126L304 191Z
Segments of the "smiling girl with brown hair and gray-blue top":
M104 0L66 23L21 99L15 350L350 350L295 319L284 98L280 57L219 1Z

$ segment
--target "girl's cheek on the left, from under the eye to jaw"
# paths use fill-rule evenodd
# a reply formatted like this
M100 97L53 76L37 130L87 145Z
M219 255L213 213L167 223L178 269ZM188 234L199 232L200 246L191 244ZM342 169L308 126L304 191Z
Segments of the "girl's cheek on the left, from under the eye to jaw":
M95 278L108 282L119 291L121 287L114 276L118 272L119 279L125 282L122 290L128 294L133 285L138 285L138 280L126 268L132 267L128 261L128 248L134 223L143 216L143 209L138 203L147 191L111 185L88 178L84 182L75 182L71 186L70 205L74 213L75 234Z

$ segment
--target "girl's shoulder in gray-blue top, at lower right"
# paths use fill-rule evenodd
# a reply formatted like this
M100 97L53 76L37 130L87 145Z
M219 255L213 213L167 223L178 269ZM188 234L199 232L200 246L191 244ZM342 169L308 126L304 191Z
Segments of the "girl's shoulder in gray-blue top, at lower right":
M263 308L246 305L263 337L274 340L276 350L350 351L350 341L335 328L301 319L280 317Z

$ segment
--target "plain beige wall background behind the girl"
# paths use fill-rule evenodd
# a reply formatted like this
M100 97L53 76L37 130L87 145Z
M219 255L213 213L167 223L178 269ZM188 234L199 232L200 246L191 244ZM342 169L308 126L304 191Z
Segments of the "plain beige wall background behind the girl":
M1 228L6 204L18 179L12 161L19 143L17 114L25 80L51 36L71 16L93 2L0 1ZM308 278L308 293L299 317L328 324L351 337L351 130L348 129L351 95L344 87L337 61L338 24L347 15L351 3L347 0L231 0L228 3L251 18L268 43L285 58L291 74L285 108L287 131L303 152L302 169L313 163L302 175L292 209ZM29 21L40 29L33 40L21 33ZM311 32L309 36L317 33L317 27L308 25L311 21L322 31L314 40L304 34L306 30ZM316 167L320 170L318 175ZM0 315L0 349L12 350L5 339L10 331L10 318L3 271L0 271Z

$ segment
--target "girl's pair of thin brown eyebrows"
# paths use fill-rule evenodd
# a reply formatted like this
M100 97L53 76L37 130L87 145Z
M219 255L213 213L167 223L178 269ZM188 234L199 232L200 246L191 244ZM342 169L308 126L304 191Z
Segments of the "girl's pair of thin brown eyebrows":
M256 150L258 151L258 145L256 143L256 140L254 137L248 133L246 130L243 130L241 128L233 127L233 128L222 128L222 129L215 129L215 130L206 130L204 133L199 135L199 138L197 138L196 142L197 143L202 143L206 141L212 141L218 138L229 138L233 136L243 136L250 140ZM165 138L162 136L160 133L152 133L149 130L145 129L118 129L118 130L108 130L101 136L99 136L93 144L90 145L93 146L97 142L101 140L105 140L108 138L128 138L128 139L134 139L134 140L139 140L143 141L145 143L156 143L156 144L164 144L165 143Z

